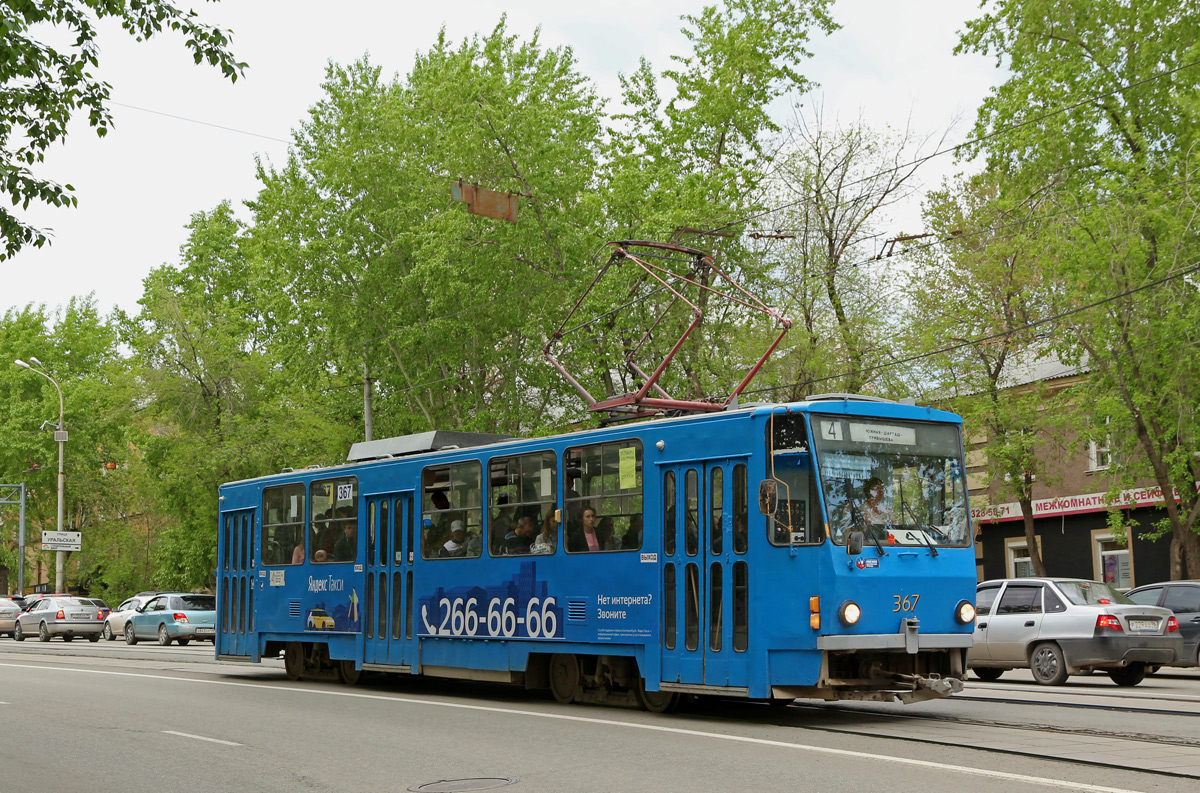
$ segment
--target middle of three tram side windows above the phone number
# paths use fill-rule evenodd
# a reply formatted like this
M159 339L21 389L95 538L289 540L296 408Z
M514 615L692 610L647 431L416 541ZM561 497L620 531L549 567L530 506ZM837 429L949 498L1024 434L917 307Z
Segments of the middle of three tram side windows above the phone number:
M487 545L493 557L554 553L558 459L545 451L487 464Z

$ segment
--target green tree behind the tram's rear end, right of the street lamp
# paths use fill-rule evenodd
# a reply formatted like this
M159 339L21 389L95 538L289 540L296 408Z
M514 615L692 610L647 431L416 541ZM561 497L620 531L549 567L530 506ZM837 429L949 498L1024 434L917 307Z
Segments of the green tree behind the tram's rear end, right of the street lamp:
M124 322L146 422L142 498L169 518L155 546L164 587L211 584L218 485L332 463L347 446L344 425L268 354L271 325L229 205L196 214L188 229L180 266L146 276L142 311Z

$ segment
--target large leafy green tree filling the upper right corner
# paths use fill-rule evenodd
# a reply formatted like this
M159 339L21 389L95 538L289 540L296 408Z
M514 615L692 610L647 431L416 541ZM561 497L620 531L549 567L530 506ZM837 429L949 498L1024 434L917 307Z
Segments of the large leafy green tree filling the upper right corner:
M1048 187L1061 222L1043 227L1054 343L1086 366L1093 426L1111 419L1120 471L1166 494L1154 535L1171 576L1200 576L1200 416L1195 373L1200 262L1188 193L1200 134L1200 7L1169 0L994 0L960 50L994 53L1008 77L979 110L976 150L1014 194ZM1136 453L1134 453L1136 452ZM1178 493L1178 503L1171 493Z

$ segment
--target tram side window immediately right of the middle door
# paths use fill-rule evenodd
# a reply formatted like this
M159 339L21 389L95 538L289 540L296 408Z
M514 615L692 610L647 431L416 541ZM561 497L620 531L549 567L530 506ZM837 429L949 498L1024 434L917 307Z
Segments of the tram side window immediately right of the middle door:
M421 482L421 558L478 557L484 547L482 467L479 462L430 465Z

